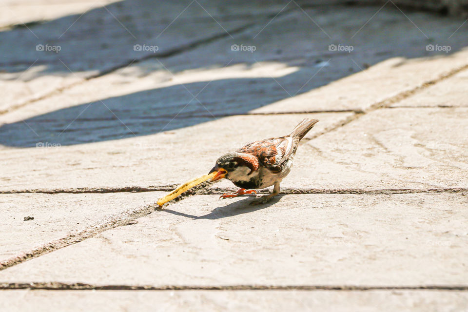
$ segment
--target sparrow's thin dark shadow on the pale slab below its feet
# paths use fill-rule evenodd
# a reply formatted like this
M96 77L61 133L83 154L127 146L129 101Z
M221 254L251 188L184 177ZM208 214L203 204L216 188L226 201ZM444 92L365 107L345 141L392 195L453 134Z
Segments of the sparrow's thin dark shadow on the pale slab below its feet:
M249 197L254 197L254 196L249 196ZM215 220L215 219L221 219L221 218L226 218L226 217L231 217L231 216L236 216L236 215L248 214L257 210L268 208L276 204L277 202L279 202L282 197L283 195L277 195L273 197L267 203L261 204L261 205L251 205L250 203L253 201L253 199L245 198L243 200L238 200L238 201L235 201L233 203L230 203L222 207L217 207L213 209L211 213L206 214L206 215L189 215L189 214L181 213L181 212L171 210L171 209L162 209L159 211L166 212L166 213L173 214L173 215L185 216L193 220L197 220L197 219Z

